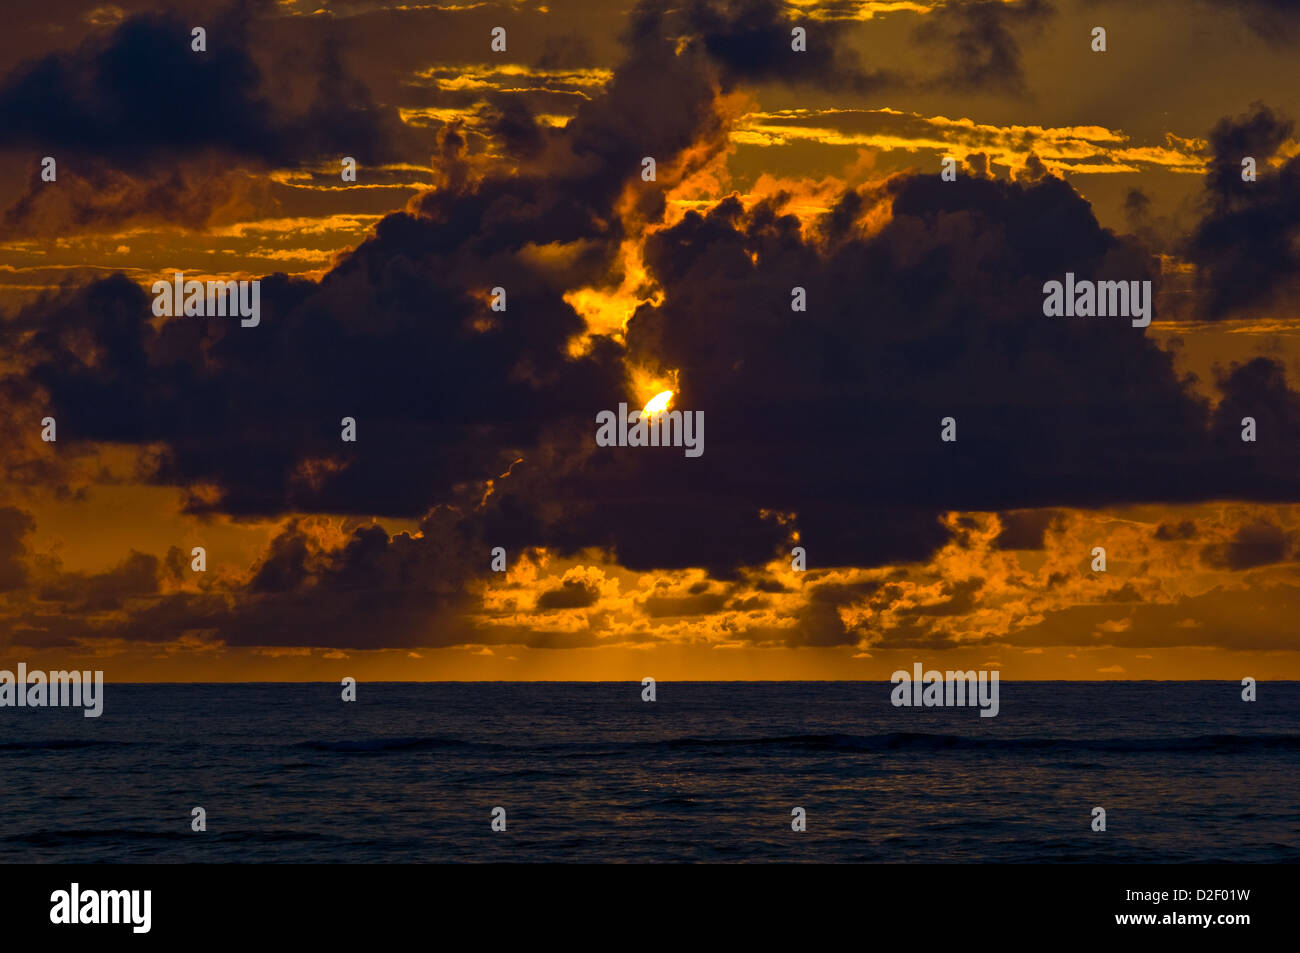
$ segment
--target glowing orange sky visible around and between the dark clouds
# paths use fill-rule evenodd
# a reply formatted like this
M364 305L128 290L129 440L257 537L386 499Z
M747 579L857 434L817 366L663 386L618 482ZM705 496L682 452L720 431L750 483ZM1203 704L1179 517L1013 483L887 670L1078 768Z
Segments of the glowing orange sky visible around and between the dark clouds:
M56 7L21 14L0 42L0 75L17 75L29 57L108 42L147 9ZM599 108L624 69L618 36L627 12L603 4L478 7L403 12L382 3L320 9L282 3L259 14L261 29L250 33L248 55L277 104L287 109L315 95L303 75L285 69L283 51L344 36L338 68L398 117L391 153L363 160L356 183L339 181L333 153L287 164L203 147L156 163L100 165L56 143L48 148L60 156L58 187L42 189L39 159L47 152L0 139L0 207L6 209L0 371L36 381L27 364L34 332L27 322L35 312L23 308L58 289L114 273L148 289L176 270L200 280L281 272L320 282L390 213L432 215L421 204L430 195L472 190L497 174L537 174L569 148L563 144L567 124L584 104ZM1221 30L1206 30L1201 21L1193 29L1170 18L1156 9L1160 4L1062 3L1044 22L1010 23L1017 68L991 81L987 70L967 70L965 78L940 72L961 64L928 53L920 39L918 27L939 16L935 7L858 4L849 18L835 18L842 10L831 4L794 8L796 18L842 31L844 49L872 68L924 75L861 90L714 77L707 103L714 125L660 166L662 208L646 204L629 170L615 204L624 234L611 272L573 278L589 251L584 241L543 238L514 248L512 260L546 276L584 322L567 341L569 354L590 354L593 334L627 345L633 312L664 300L647 270L647 244L728 195L750 213L777 200L805 234L814 234L845 190L937 176L946 155L983 156L992 163L988 174L1008 182L1037 163L1089 203L1104 228L1176 248L1202 211L1214 124L1245 111L1256 90L1268 92L1270 107L1300 114L1294 47L1226 10L1214 14ZM211 22L217 22L214 10ZM1079 40L1097 18L1112 36L1104 61ZM481 38L498 21L510 30L511 49L490 59ZM1167 68L1188 59L1201 69ZM304 62L313 75L315 61ZM529 153L502 131L494 111L508 99L526 103L537 127L555 135L546 151ZM653 108L637 118L658 122ZM667 113L673 105L659 108ZM448 135L464 140L459 153L447 146ZM355 151L364 155L368 144ZM1300 142L1288 134L1273 168L1297 152ZM1149 203L1141 216L1130 202L1132 190ZM892 216L881 203L855 226L870 237ZM1196 376L1188 390L1213 406L1222 398L1218 376L1258 356L1296 380L1295 302L1278 299L1212 321L1195 300L1188 303L1190 268L1176 254L1165 255L1157 304L1164 320L1145 332L1174 355L1179 374ZM702 315L702 335L706 320ZM90 355L90 365L108 360L75 335L64 345L70 354ZM400 350L400 341L393 348ZM624 371L623 393L608 394L610 406L645 402L672 385L676 368L646 368L628 352ZM356 373L378 378L387 372L359 367ZM285 381L286 394L294 386ZM783 386L772 381L775 390ZM1300 677L1292 633L1300 606L1300 499L1170 503L1162 501L1178 494L1160 486L1143 488L1138 502L1102 508L944 510L948 542L924 559L828 566L812 549L802 573L792 571L788 555L802 541L798 516L783 512L764 516L788 527L783 546L768 562L731 575L694 568L689 558L684 567L628 569L610 547L576 546L562 555L546 545L512 550L510 571L491 573L486 545L455 551L447 543L437 559L469 568L448 576L458 581L439 593L446 605L403 614L399 636L377 631L384 623L372 621L359 599L347 634L315 641L309 625L295 628L269 615L260 641L248 644L234 631L161 610L191 597L204 601L208 618L218 605L255 610L269 599L259 580L277 545L302 547L311 576L344 551L358 528L381 527L393 546L403 533L416 545L428 542L425 533L433 530L420 516L380 511L224 512L221 504L196 511L195 499L220 499L220 493L199 480L156 478L166 441L79 441L72 419L68 439L42 443L35 421L46 397L39 387L35 395L0 397L6 475L0 507L21 514L9 517L0 551L12 566L12 584L0 592L0 655L31 667L103 668L113 681L712 680L888 679L922 660L997 667L1006 679ZM266 408L268 420L274 413ZM511 450L503 447L507 458ZM545 469L546 452L530 447L520 459ZM499 467L480 467L458 484L455 498L430 498L429 512L454 506L472 514L476 501L516 480ZM194 546L207 550L204 573L188 571ZM1095 546L1106 549L1105 572L1089 568ZM136 580L136 569L148 579ZM382 586L369 597L376 606L400 598ZM841 628L852 637L827 644L819 634Z

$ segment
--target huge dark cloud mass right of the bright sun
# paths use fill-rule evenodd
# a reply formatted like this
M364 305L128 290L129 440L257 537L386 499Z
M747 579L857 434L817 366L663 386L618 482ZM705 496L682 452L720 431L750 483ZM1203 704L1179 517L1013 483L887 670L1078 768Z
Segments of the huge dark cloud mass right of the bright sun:
M664 303L637 313L629 347L680 372L677 406L706 410L696 494L797 512L810 564L872 566L933 551L944 510L1300 491L1279 365L1232 371L1212 413L1128 321L1043 316L1043 282L1067 270L1160 280L1070 186L914 176L885 191L893 218L864 238L840 216L861 199L823 244L725 200L649 242ZM1251 408L1266 451L1240 441Z

